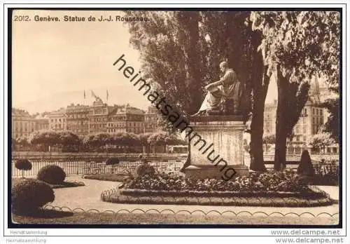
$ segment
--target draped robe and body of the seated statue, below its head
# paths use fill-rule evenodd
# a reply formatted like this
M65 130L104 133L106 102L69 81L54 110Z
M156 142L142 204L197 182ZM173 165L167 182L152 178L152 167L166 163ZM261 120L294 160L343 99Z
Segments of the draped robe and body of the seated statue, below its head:
M225 102L232 101L232 106L237 113L241 107L243 88L233 69L228 69L220 79L220 85L208 90L204 97L200 111L223 111Z

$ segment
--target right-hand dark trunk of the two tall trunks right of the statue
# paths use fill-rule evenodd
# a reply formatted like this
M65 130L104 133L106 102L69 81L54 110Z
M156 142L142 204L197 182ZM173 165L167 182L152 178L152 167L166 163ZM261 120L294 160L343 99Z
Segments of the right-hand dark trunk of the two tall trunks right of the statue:
M286 144L287 130L286 120L288 119L288 75L283 76L279 67L277 68L277 112L276 112L276 146L274 151L274 170L286 168Z

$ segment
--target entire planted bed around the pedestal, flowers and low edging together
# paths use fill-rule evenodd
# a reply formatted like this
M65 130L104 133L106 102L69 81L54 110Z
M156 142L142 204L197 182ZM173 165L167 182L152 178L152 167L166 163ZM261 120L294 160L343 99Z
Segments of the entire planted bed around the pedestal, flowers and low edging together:
M221 179L193 179L177 174L143 175L106 191L103 201L134 204L236 205L312 207L331 205L332 199L319 189L310 189L295 172L266 172Z

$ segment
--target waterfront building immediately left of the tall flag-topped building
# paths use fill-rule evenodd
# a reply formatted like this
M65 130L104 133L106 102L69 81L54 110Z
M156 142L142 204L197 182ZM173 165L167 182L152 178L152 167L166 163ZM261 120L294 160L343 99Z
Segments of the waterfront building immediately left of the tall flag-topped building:
M89 132L90 107L73 103L66 107L67 130L76 135L87 135Z

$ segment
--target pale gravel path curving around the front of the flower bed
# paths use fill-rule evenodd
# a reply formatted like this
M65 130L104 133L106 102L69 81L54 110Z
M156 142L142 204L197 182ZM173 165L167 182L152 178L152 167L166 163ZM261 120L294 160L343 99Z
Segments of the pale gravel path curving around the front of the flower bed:
M329 206L322 207L312 207L312 208L275 208L275 207L249 207L249 206L211 206L211 205L150 205L150 204L125 204L125 203L106 203L101 201L101 193L107 189L112 189L118 187L118 182L106 182L99 181L95 179L82 179L80 176L69 176L66 177L68 181L80 181L85 183L85 187L71 187L63 189L54 189L55 191L55 201L50 203L50 205L58 207L68 207L71 210L74 208L82 208L83 210L96 209L100 212L106 210L113 210L114 212L118 210L150 210L156 209L162 210L172 210L178 212L181 210L188 210L193 212L195 210L202 210L203 212L209 212L216 210L218 212L232 211L236 214L242 211L254 212L265 212L267 215L273 212L281 212L286 215L288 212L297 213L301 215L303 212L310 212L313 215L319 215L322 212L326 212L330 215L337 214L339 212L339 205L333 204ZM331 197L337 198L337 187L320 187L324 191L327 191ZM333 198L333 199L334 199ZM202 214L201 212L196 212L197 214ZM278 216L278 215L276 215ZM297 216L297 215L289 215ZM320 215L320 217L328 217L328 215ZM303 217L313 217L312 215L303 215Z

